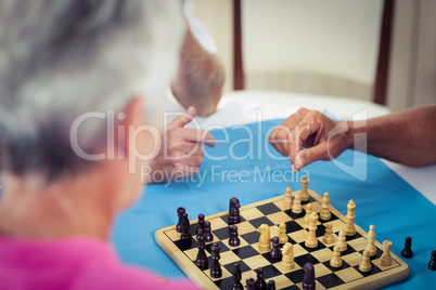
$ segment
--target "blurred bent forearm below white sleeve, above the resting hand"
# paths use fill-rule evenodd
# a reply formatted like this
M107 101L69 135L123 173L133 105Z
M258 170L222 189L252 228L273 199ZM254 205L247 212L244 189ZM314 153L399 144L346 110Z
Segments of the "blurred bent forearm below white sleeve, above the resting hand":
M203 50L188 30L171 84L175 97L185 108L194 106L198 116L208 116L217 108L223 82L225 72L218 58Z

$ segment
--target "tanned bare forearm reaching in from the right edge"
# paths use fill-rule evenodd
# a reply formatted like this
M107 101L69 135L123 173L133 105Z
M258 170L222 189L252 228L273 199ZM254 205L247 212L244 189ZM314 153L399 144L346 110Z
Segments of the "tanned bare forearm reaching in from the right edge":
M349 147L398 163L436 163L436 105L405 110L367 121L349 122ZM363 145L363 146L362 146Z

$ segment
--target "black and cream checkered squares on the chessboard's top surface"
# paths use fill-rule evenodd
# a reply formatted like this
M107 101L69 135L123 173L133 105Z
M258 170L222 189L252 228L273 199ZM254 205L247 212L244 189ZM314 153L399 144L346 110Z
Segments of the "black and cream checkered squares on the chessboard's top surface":
M310 190L311 192L311 190ZM315 212L321 211L321 203L313 198L315 193L311 193L311 198L308 202L312 203ZM318 197L319 198L319 197ZM320 198L319 198L320 200ZM306 202L307 203L307 202ZM306 207L304 207L306 208ZM338 232L345 225L345 217L338 217L334 213L329 221L318 220L318 229L316 232L319 240L317 248L307 248L305 240L308 236L308 223L304 220L305 211L300 214L294 214L290 209L283 209L283 199L277 199L257 206L247 206L241 209L241 223L238 224L241 245L239 247L229 246L230 227L227 223L228 214L222 213L214 215L215 217L207 221L211 224L211 233L214 241L206 245L206 254L209 259L208 265L211 265L210 247L214 242L218 242L220 250L220 264L222 268L222 277L214 279L210 277L210 269L202 271L203 278L211 280L219 289L231 289L233 285L232 273L234 264L239 263L242 272L241 282L245 285L247 278L255 278L254 269L264 268L266 280L273 279L277 289L302 289L302 281L305 275L303 269L304 264L310 262L315 266L317 289L341 287L345 284L361 279L364 284L369 280L376 279L375 274L388 272L396 267L400 267L402 261L393 259L393 264L388 267L382 266L380 258L383 251L377 248L375 256L371 258L372 269L369 273L359 271L361 253L368 245L367 237L357 233L354 237L347 237L347 250L341 253L343 265L338 268L333 268L330 265L330 260L333 255L333 246L325 245L322 237L325 234L324 224L331 222L333 224L333 234L337 240ZM294 245L294 261L295 268L284 271L281 266L281 258L272 259L269 252L259 252L258 242L260 234L257 233L257 227L261 224L268 224L271 228L271 237L279 235L279 224L284 222L288 241ZM175 227L164 232L164 234L177 246L184 254L187 261L193 263L197 254L197 242L195 240L196 223L191 224L191 234L193 240L191 245L180 242L180 233L177 233ZM282 246L281 246L282 247ZM190 263L188 262L188 263ZM182 267L181 267L182 268ZM183 269L183 268L182 268ZM380 276L380 275L379 275Z

